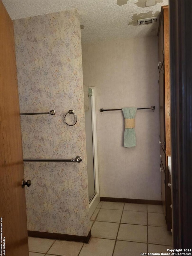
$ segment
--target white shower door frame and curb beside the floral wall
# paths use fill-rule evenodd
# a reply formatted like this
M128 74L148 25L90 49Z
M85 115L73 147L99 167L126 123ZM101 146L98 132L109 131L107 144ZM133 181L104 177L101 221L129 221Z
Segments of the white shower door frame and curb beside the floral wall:
M91 117L92 117L92 137L93 137L93 162L94 162L94 182L95 182L95 195L89 203L89 218L95 211L99 201L99 168L98 168L98 147L97 147L97 125L96 125L96 105L95 105L95 87L92 89L91 96Z

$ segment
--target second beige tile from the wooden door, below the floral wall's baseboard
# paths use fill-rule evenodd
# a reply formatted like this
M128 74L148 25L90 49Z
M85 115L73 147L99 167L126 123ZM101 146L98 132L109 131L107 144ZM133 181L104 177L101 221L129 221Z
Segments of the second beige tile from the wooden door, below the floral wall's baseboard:
M47 253L62 256L77 256L82 246L83 243L78 242L55 241L54 245Z

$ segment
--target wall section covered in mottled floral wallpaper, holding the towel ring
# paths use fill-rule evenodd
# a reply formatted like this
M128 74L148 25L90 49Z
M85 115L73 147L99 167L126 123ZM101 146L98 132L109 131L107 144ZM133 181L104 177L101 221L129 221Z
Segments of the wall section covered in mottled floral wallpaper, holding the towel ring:
M64 11L14 21L24 158L75 158L81 163L25 162L28 230L88 235L88 184L79 15ZM64 123L74 109L78 122ZM73 115L74 116L74 115ZM72 115L67 115L72 123Z

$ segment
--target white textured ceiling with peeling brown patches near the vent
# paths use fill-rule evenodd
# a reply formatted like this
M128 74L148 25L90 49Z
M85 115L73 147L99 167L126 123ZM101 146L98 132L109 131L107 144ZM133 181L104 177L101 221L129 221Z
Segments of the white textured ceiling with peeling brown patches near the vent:
M2 1L13 20L77 9L83 28L81 35L84 44L157 35L157 23L136 26L137 20L158 16L161 6L168 5L168 0Z

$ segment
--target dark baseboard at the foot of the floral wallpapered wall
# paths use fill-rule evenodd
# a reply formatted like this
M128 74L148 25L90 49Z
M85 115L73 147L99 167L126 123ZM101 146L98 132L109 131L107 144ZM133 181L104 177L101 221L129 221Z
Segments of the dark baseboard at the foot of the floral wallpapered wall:
M54 240L65 240L65 241L72 241L72 242L88 243L89 239L91 238L91 230L89 231L88 236L73 236L73 235L65 235L65 234L58 234L58 233L28 230L28 236L54 239Z

